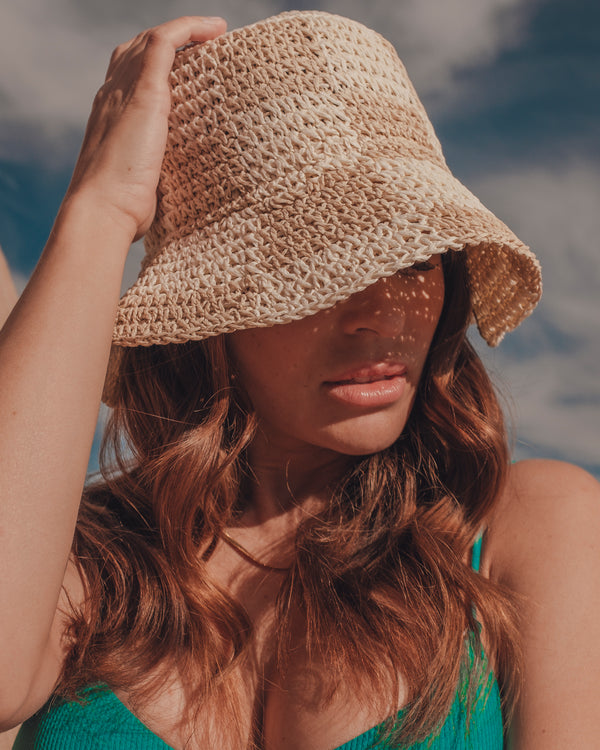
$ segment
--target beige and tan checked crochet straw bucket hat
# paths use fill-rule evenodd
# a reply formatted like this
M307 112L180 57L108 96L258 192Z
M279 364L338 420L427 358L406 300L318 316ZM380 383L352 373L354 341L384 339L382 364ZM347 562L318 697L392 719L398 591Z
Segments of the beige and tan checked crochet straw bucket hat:
M529 249L450 173L392 45L288 12L188 47L146 257L117 347L199 340L331 307L449 248L467 251L490 345L541 293Z

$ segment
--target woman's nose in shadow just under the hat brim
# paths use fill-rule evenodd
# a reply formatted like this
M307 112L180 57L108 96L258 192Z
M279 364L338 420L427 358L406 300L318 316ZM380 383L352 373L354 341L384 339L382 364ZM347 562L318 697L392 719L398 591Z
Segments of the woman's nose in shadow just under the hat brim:
M403 332L405 307L394 282L379 279L338 305L344 333L395 338Z

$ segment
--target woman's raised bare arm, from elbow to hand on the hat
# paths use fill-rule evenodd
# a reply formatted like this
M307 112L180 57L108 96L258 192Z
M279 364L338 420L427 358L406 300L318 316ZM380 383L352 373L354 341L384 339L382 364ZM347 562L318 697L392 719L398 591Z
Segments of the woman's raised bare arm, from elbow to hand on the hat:
M58 676L52 623L123 265L154 214L173 57L224 28L181 18L115 50L48 244L0 334L0 729Z

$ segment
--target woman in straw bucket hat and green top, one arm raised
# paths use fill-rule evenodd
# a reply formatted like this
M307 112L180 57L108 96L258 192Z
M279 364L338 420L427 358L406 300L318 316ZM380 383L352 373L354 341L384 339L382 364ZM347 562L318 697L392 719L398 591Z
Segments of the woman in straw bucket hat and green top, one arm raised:
M531 311L537 262L452 178L381 37L322 13L222 32L117 48L2 331L3 725L484 748L502 700L510 746L593 747L598 488L509 467L464 337ZM102 393L114 458L80 505Z

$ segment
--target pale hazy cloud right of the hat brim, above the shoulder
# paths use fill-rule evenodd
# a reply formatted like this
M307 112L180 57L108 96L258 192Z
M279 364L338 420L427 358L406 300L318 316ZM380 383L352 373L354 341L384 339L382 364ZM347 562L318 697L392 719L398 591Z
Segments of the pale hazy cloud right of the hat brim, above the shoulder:
M600 165L523 167L471 187L532 246L544 273L532 318L483 352L514 398L519 452L599 467Z

